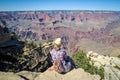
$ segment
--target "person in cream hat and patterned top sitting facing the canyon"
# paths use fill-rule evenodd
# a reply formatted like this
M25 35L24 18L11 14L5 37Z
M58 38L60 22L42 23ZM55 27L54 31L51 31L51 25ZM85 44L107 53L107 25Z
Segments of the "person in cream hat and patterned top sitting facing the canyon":
M53 65L49 70L55 70L59 73L65 73L71 70L71 58L67 56L66 51L61 49L61 38L57 38L54 42L54 48L50 51Z

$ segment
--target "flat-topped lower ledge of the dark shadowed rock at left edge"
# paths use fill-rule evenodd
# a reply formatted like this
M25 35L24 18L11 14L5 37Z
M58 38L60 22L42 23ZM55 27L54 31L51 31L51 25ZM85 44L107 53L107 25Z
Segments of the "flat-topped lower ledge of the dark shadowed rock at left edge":
M0 45L0 70L19 70L19 56L23 53L23 42L10 40Z

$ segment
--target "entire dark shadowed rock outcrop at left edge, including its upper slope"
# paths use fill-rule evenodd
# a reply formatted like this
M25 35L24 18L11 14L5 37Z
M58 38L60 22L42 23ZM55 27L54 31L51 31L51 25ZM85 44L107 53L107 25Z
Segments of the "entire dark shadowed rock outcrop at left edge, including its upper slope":
M23 42L18 41L14 33L0 25L0 70L17 70L18 57L23 53Z

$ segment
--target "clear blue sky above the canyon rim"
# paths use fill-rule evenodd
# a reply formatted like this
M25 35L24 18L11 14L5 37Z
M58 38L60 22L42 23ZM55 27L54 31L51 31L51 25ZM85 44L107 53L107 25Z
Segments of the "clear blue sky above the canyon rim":
M0 0L0 11L29 10L120 11L120 0Z

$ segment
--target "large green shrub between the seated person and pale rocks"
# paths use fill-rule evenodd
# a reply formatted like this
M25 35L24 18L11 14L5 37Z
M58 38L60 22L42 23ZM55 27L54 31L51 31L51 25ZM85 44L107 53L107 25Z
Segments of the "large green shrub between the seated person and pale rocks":
M90 74L98 74L101 76L101 79L104 78L104 68L102 67L97 68L96 66L94 66L94 63L90 60L90 58L87 58L85 52L83 51L77 52L73 56L73 60L75 61L76 64L78 64L78 67L83 68L86 72Z

